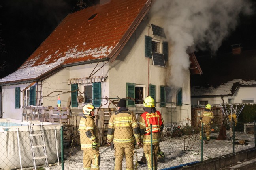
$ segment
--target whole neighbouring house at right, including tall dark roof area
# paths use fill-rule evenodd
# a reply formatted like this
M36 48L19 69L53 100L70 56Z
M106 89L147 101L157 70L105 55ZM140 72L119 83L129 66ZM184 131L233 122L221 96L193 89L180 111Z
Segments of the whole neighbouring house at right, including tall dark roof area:
M233 49L233 53L218 55L215 61L199 57L205 75L192 76L191 104L255 103L255 56L256 50Z

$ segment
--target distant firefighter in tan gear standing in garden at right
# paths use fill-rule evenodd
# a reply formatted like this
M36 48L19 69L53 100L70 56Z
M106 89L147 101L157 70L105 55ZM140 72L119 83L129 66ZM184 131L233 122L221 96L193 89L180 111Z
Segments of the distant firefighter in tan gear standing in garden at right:
M211 105L207 104L205 110L200 116L200 122L203 123L203 131L206 133L207 141L210 140L211 124L213 124L213 112L211 111ZM200 140L202 140L202 132L200 131Z

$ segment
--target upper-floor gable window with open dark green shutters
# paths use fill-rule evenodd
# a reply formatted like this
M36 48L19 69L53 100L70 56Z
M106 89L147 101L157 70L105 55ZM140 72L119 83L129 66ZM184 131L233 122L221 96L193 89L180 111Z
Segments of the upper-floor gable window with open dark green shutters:
M162 49L160 48L161 42ZM152 39L152 37L145 36L145 57L152 58L151 52L164 54L164 60L168 61L168 42Z

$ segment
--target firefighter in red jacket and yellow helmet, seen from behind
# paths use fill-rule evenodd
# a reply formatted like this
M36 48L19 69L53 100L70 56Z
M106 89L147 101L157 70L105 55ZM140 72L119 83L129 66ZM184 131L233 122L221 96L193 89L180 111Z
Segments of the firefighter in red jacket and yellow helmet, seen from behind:
M160 131L164 128L162 121L162 115L155 108L154 99L151 96L145 98L143 102L144 113L141 114L139 120L139 126L141 131L141 140L143 144L143 150L147 159L148 169L157 170L157 157L160 142ZM151 162L151 128L152 125L152 144L153 144L153 163Z

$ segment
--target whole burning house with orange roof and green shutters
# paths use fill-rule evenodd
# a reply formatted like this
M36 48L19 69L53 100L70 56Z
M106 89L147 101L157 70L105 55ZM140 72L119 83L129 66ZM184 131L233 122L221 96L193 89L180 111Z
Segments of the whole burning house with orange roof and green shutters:
M170 50L163 25L147 18L150 6L150 0L104 0L69 14L21 67L0 79L3 118L21 119L28 105L56 106L58 95L62 106L71 96L73 115L87 103L107 108L105 96L136 98L127 106L142 112L143 99L152 96L166 123L190 118L190 72L179 91L166 86ZM194 54L190 61L191 74L201 74Z

